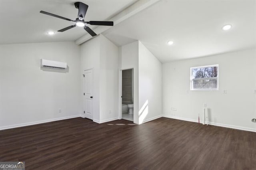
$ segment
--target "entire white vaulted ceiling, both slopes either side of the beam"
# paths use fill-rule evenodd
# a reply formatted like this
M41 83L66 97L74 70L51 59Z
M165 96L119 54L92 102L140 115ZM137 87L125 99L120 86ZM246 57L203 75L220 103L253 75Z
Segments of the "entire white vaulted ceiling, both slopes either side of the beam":
M137 0L81 0L86 20L109 20ZM140 0L148 2L149 0ZM86 32L40 14L40 10L75 19L75 0L1 0L0 43L75 41ZM202 57L256 47L255 0L159 0L102 34L116 45L140 40L161 62ZM228 31L222 26L231 24ZM95 27L91 26L92 29ZM167 45L173 41L173 45Z

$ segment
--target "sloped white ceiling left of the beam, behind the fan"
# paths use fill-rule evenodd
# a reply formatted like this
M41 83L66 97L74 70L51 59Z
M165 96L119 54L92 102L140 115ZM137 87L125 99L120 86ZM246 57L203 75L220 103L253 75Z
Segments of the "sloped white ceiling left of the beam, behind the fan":
M39 13L40 10L63 16L72 20L77 18L78 0L0 0L0 44L75 41L87 32L83 28L72 28L57 32L74 25L59 18ZM89 6L85 19L108 20L137 0L79 0ZM94 26L90 26L94 28ZM47 32L54 31L54 36Z

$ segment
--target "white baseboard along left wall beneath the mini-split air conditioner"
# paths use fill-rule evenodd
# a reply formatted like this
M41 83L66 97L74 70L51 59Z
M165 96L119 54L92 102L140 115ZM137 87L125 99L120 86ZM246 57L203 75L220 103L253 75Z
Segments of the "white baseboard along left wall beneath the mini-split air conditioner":
M16 124L16 125L9 125L9 126L0 127L0 130L9 129L9 128L17 128L17 127L25 127L25 126L53 122L53 121L61 121L61 120L72 119L72 118L76 118L76 117L80 117L80 116L81 115L74 115L74 116L67 116L67 117L59 117L59 118L55 118L55 119L47 119L44 121L35 121L35 122L21 123L21 124Z

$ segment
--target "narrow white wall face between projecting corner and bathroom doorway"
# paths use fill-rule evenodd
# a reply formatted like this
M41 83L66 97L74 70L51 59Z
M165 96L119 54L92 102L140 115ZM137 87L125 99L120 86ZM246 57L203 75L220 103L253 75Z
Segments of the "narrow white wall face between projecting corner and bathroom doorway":
M118 119L118 47L100 35L100 122Z

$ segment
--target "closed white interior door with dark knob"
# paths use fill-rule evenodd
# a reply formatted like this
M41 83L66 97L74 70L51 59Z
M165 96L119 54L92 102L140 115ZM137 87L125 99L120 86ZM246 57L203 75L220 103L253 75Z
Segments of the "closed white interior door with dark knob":
M84 116L93 120L93 70L84 70Z

